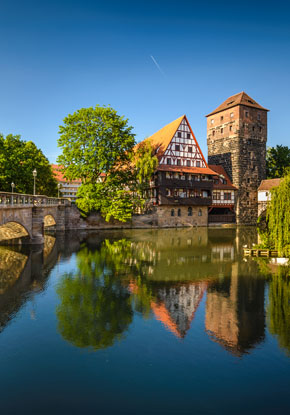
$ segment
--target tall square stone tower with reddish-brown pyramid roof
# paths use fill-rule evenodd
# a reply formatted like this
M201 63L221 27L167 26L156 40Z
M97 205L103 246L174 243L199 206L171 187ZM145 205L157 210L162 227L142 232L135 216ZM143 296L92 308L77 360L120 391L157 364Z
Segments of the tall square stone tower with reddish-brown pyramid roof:
M267 111L240 92L206 116L208 163L222 165L238 188L241 225L257 222L257 189L266 178Z

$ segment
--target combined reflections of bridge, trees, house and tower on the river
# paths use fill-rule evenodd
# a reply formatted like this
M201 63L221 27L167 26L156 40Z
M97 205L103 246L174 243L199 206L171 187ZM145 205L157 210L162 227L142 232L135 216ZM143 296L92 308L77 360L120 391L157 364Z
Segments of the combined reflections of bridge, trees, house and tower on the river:
M56 289L58 331L74 346L114 345L134 314L184 339L204 301L204 330L219 347L249 353L263 342L267 324L289 352L289 269L245 261L243 245L256 240L254 229L140 230L47 235L36 251L1 248L0 329L74 253L74 269Z

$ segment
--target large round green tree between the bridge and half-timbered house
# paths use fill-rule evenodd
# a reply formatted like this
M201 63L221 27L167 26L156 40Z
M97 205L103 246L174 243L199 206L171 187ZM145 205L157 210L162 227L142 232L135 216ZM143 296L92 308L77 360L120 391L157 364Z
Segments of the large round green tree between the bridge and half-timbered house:
M80 178L77 206L126 222L145 204L145 188L157 165L151 144L135 146L128 120L110 107L83 108L60 126L58 162L69 179ZM103 174L105 173L105 175Z

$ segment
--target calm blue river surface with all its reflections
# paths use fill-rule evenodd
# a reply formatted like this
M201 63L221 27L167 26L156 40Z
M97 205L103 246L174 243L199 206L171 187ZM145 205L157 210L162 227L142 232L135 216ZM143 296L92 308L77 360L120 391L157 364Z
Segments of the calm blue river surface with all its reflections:
M255 229L0 247L0 413L289 414L289 270Z

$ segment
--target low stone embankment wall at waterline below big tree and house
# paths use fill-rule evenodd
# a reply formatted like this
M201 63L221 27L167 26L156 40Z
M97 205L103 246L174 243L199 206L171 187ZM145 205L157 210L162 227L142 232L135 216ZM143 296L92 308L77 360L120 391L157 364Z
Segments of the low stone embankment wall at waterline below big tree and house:
M172 215L174 209L174 216ZM180 209L180 216L178 210ZM106 222L99 213L92 213L82 218L77 207L72 206L66 214L66 229L132 229L132 228L169 228L186 226L207 226L207 207L192 207L192 215L188 216L188 207L162 206L155 208L151 213L133 215L128 222L111 220Z

